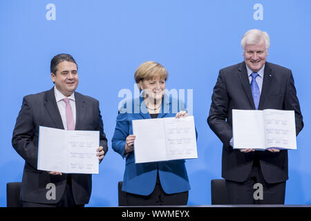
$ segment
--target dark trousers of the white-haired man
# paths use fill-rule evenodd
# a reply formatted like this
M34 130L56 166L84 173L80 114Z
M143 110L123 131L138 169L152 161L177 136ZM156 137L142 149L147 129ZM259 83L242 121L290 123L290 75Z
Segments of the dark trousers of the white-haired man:
M253 164L245 182L225 180L225 184L229 204L284 204L285 201L286 182L265 182L258 162Z

